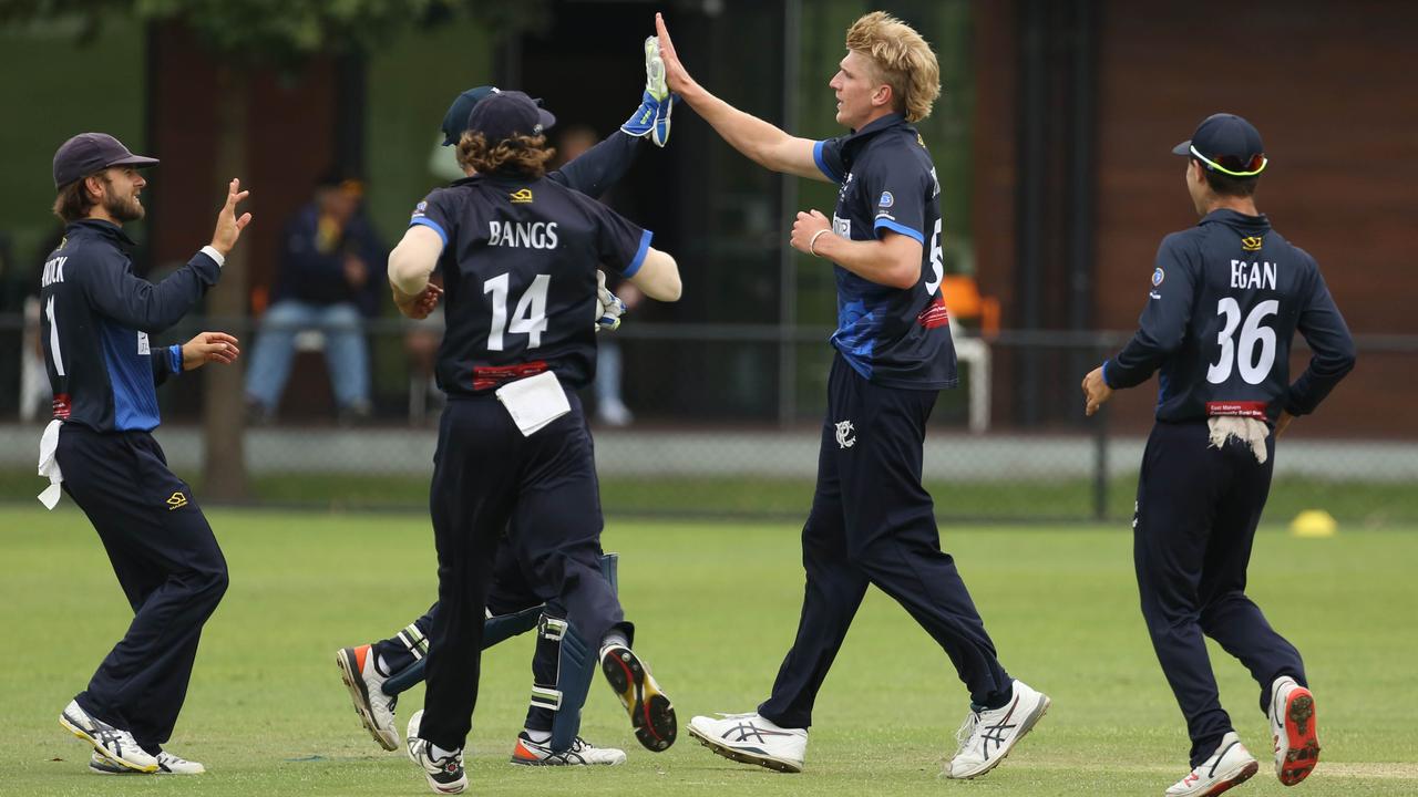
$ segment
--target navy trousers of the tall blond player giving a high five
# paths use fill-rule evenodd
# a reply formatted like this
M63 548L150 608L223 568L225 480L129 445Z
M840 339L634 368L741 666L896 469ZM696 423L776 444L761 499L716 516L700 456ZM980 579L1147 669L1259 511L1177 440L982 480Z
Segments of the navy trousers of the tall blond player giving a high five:
M828 377L817 494L803 526L807 589L797 640L759 713L813 725L813 703L868 584L876 584L946 651L980 705L1012 693L954 560L940 550L934 506L920 484L933 390L872 384L841 355Z

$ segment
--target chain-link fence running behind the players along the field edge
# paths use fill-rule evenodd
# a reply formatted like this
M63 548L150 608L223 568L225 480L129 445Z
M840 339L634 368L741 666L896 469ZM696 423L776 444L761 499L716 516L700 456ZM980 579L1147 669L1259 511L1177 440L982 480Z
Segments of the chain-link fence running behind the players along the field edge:
M31 313L33 316L33 313ZM184 323L169 342L200 329ZM213 321L213 328L240 325ZM627 323L603 343L620 360L584 393L607 515L803 518L813 496L831 363L830 330ZM272 417L242 424L252 505L421 508L441 397L420 363L437 330L377 319L363 330L373 411L337 413L320 333L296 336ZM34 452L48 416L35 328L0 316L0 496L40 491ZM250 330L244 336L250 340ZM957 335L961 386L940 394L926 441L926 484L943 519L1126 520L1156 387L1119 393L1082 417L1083 373L1123 333ZM244 345L244 356L252 347ZM1360 336L1360 364L1330 401L1296 421L1276 454L1268 519L1324 509L1346 522L1418 523L1418 339ZM1306 352L1296 355L1303 367ZM603 353L603 364L608 360ZM1297 370L1295 372L1297 373ZM38 380L38 381L37 381ZM160 391L157 438L203 489L203 383ZM618 401L617 401L618 398Z

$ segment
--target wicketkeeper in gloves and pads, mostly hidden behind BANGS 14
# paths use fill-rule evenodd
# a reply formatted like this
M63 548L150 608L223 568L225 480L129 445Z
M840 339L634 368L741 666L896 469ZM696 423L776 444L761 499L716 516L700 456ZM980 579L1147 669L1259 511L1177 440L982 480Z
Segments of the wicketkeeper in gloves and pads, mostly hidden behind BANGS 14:
M641 106L620 130L596 145L562 170L546 179L596 197L614 186L634 163L642 140L665 146L674 99L665 88L664 65L654 37L645 43L647 87ZM444 146L457 145L467 129L468 116L478 102L498 94L493 87L476 87L459 94L444 115ZM437 298L437 296L434 296ZM620 299L597 286L596 323L613 330L620 325L624 306ZM588 319L590 321L590 319ZM603 562L603 570L614 567ZM543 589L545 593L545 589ZM543 606L547 604L549 606ZM376 742L386 750L398 747L394 706L398 691L423 679L428 635L438 613L435 603L428 613L391 637L369 645L342 648L336 664L354 702L354 710ZM566 607L554 594L542 594L529 583L512 549L499 550L493 583L488 597L488 631L484 647L515 634L537 630L532 672L533 688L526 725L513 745L512 763L527 766L620 764L625 753L594 746L579 735L580 712L596 667L591 651L574 647L576 635L566 635Z

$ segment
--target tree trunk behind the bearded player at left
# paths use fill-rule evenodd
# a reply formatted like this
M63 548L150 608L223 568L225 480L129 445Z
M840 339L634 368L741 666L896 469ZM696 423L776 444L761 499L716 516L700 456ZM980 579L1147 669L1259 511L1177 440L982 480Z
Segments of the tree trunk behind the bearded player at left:
M216 177L225 196L233 177L250 176L247 152L247 109L250 94L245 77L231 67L217 75L217 159ZM250 203L248 203L250 204ZM238 207L240 216L244 208ZM247 318L247 252L250 240L242 240L227 255L221 281L207 294L207 315L223 323L244 322ZM224 326L223 326L224 329ZM231 329L241 338L244 352L251 352L250 329ZM250 355L245 355L250 356ZM251 495L247 479L245 450L245 390L242 387L244 359L235 367L208 366L201 369L203 381L203 440L204 486L207 498L218 502L240 502Z

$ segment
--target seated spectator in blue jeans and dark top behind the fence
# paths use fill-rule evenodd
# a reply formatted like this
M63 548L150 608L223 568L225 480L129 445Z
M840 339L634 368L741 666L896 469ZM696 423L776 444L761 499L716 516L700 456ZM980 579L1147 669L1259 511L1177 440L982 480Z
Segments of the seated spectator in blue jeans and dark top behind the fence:
M326 176L315 201L285 225L272 302L257 328L247 370L247 408L254 423L275 416L291 376L295 338L305 330L323 333L340 423L370 416L363 319L374 313L383 295L387 251L363 214L362 199L359 180Z

